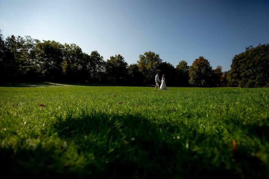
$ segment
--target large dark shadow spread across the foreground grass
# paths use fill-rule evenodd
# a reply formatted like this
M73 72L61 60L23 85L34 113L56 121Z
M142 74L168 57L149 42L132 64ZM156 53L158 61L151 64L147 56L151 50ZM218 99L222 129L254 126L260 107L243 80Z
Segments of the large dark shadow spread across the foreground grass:
M162 130L160 130L160 128ZM51 130L68 146L36 149L1 149L4 171L13 176L65 178L266 178L268 166L239 149L236 162L227 161L229 146L211 141L200 148L186 148L185 139L173 139L180 130L169 123L157 126L139 115L90 112L74 118L58 117ZM173 132L174 131L174 132ZM213 138L195 133L196 139ZM198 141L199 142L199 141ZM197 141L196 141L197 143ZM197 144L196 144L197 145ZM227 155L227 156L221 156ZM68 157L69 156L69 157ZM224 159L224 160L223 160ZM232 158L231 158L232 159ZM228 162L228 164L227 164ZM230 169L227 169L227 166Z

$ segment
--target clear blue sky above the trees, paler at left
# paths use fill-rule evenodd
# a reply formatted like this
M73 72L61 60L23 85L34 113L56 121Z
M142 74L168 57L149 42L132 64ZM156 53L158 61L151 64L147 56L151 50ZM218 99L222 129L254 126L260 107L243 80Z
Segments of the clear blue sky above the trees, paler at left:
M245 47L269 43L269 0L0 0L0 29L105 60L132 64L152 51L174 66L204 56L227 71Z

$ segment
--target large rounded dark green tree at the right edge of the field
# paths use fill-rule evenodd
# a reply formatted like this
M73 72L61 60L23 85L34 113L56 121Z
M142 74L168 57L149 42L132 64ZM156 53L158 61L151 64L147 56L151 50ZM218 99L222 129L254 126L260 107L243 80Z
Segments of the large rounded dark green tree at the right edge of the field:
M269 44L249 46L235 55L227 73L229 86L269 87Z

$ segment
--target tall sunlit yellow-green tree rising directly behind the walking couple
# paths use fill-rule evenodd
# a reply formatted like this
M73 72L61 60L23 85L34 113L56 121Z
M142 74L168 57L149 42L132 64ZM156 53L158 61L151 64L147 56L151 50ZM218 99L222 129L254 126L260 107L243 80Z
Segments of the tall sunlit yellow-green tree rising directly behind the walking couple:
M159 66L162 62L159 54L154 52L145 52L144 55L139 55L139 61L137 61L137 66L139 70L146 76L146 82L151 83L154 81L154 76L159 71Z

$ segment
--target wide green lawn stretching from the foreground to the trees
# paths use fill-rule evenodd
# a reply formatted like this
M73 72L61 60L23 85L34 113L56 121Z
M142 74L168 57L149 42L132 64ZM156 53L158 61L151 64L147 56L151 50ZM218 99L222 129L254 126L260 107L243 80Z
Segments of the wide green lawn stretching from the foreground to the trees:
M1 175L269 178L268 100L268 88L2 86Z

